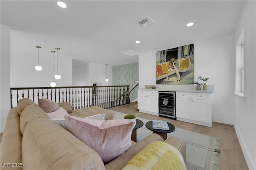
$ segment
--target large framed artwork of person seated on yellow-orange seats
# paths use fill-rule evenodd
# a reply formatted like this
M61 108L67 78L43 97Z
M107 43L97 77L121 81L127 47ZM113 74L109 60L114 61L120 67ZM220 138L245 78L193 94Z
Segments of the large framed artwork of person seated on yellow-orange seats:
M194 44L156 52L156 84L194 84Z

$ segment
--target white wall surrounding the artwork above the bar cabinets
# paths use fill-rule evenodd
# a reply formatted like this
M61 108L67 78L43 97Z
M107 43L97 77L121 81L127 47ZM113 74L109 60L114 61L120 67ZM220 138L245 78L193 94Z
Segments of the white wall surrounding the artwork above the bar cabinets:
M213 121L220 123L233 124L234 120L234 109L231 107L234 103L234 50L234 34L194 42L194 78L196 81L198 76L208 77L207 84L214 85ZM144 84L156 84L155 68L155 51L139 55L139 88L144 88ZM195 88L194 85L179 86Z

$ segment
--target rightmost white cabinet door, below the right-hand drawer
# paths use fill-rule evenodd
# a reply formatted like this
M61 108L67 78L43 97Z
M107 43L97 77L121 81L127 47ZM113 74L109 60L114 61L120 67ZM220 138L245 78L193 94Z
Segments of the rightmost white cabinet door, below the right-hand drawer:
M210 100L192 99L192 120L212 123L212 104Z

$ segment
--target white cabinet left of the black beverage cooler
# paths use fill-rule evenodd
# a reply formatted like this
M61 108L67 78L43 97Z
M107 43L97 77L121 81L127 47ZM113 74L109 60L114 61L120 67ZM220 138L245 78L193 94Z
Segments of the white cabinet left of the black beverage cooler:
M140 112L158 115L158 91L138 90L138 109Z

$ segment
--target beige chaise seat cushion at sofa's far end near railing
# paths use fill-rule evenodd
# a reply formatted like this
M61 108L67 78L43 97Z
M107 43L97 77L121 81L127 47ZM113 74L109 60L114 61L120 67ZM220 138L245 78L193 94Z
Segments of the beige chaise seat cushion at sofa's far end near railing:
M105 113L105 120L108 119L113 119L114 117L114 112L108 109L103 109L98 106L92 106L92 107L85 107L82 109L74 109L72 113L69 115L76 116L76 117L88 117L88 116L93 116L96 114L102 114Z

